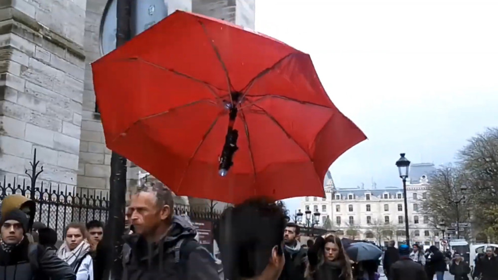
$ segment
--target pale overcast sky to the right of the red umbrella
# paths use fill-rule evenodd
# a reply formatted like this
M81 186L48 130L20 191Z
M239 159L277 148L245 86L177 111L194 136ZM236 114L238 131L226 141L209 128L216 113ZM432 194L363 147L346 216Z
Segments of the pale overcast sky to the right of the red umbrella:
M336 187L384 187L401 184L399 153L452 162L498 125L497 12L496 0L256 0L255 16L257 31L311 55L369 138L332 165Z

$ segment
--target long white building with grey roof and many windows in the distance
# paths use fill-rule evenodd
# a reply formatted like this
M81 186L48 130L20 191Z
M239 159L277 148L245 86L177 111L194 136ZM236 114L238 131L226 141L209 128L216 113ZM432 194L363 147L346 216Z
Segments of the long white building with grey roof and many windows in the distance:
M433 164L410 166L406 187L410 243L439 246L439 231L429 217L422 214L421 207L433 171ZM325 190L325 198L307 196L301 201L303 213L306 210L320 213L318 226L323 226L329 217L333 229L349 238L382 245L388 240L404 242L406 239L402 186L378 188L373 184L372 187L340 188L329 184Z

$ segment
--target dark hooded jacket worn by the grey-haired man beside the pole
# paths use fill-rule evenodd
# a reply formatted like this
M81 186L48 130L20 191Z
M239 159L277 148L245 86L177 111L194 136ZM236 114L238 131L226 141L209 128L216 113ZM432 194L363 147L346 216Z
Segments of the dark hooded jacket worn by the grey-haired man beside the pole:
M219 280L220 276L213 257L195 241L196 231L180 216L173 216L171 229L158 243L148 244L136 234L124 237L130 247L129 256L124 257L123 280ZM175 247L181 241L181 260L177 259ZM182 255L188 252L188 255Z

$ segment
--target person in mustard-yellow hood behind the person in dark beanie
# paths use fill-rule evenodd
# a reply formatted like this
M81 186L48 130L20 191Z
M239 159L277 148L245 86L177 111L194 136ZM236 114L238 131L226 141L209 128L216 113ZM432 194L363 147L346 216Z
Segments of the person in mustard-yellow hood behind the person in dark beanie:
M1 216L3 217L6 213L12 211L13 209L19 209L28 215L28 224L25 235L29 242L34 243L31 230L33 228L34 215L36 213L36 203L22 194L10 194L5 196L2 200L0 210Z

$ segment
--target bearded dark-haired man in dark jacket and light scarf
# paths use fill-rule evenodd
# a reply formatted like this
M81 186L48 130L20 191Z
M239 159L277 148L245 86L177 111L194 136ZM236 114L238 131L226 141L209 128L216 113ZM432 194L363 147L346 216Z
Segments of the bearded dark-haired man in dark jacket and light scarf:
M283 232L285 265L280 280L304 280L304 273L308 267L308 251L302 248L297 240L299 230L299 226L295 223L287 223L285 226Z

